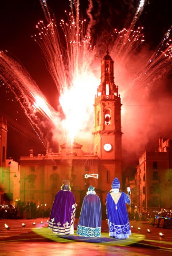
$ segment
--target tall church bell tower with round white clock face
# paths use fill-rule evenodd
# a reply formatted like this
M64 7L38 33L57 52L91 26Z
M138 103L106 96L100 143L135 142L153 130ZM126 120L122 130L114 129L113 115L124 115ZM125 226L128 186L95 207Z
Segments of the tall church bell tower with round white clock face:
M101 61L101 83L94 104L94 153L100 159L100 187L111 188L115 177L121 181L121 98L114 83L114 61L108 51ZM110 184L109 184L110 183Z

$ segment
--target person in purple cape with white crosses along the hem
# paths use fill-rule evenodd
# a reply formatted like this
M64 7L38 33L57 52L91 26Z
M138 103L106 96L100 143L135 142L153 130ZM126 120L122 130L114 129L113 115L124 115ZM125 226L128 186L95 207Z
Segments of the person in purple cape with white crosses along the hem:
M74 234L75 199L70 191L70 181L64 180L61 190L56 194L51 209L48 227L55 234Z

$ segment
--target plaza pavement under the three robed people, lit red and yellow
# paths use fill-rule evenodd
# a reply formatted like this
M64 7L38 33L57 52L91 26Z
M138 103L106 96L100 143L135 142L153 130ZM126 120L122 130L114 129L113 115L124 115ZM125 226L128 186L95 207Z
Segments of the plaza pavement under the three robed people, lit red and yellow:
M43 221L43 224L41 224ZM35 222L35 225L33 225ZM131 236L118 240L108 236L107 221L102 221L99 238L76 235L78 219L74 223L74 235L57 236L47 228L47 220L2 219L0 220L1 256L147 256L172 255L172 230L152 227L147 221L130 221ZM4 224L10 229L7 230ZM22 227L22 223L26 226ZM138 227L141 229L138 230ZM151 233L147 232L150 229ZM159 232L164 237L159 236Z

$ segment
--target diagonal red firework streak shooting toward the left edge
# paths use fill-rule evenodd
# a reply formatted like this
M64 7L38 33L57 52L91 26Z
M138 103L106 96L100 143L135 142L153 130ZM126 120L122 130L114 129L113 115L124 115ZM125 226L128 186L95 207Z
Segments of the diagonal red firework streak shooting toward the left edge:
M3 51L0 51L0 79L14 93L28 120L42 136L41 122L35 112L41 112L50 120L56 116L56 113L26 69ZM45 142L43 144L45 146Z

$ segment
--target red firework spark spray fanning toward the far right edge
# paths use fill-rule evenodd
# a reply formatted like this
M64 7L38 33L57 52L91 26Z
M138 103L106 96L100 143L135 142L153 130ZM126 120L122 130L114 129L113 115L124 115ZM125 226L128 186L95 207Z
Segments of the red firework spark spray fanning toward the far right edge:
M172 68L172 39L170 39L172 26L164 35L163 40L145 62L142 70L138 72L134 81L134 87L142 87L144 84L155 82L166 77Z

